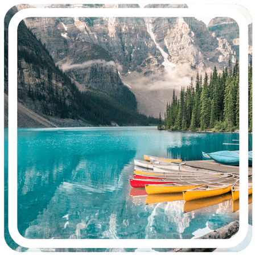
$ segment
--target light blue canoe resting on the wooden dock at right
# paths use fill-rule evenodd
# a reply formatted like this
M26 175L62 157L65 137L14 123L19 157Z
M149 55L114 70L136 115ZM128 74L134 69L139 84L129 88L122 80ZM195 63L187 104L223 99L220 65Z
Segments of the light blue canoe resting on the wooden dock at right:
M226 164L229 166L239 166L239 150L236 151L218 151L213 153L203 154L203 159L210 160L213 159L217 163ZM249 164L253 163L253 154L248 152Z

